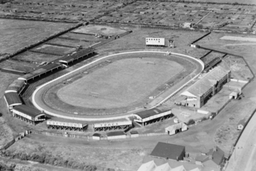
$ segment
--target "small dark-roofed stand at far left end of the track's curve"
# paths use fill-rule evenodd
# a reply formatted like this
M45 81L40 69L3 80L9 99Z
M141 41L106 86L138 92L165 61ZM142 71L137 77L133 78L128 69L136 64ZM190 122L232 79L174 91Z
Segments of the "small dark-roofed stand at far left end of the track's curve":
M4 98L9 111L12 111L15 106L23 104L17 92L5 93Z

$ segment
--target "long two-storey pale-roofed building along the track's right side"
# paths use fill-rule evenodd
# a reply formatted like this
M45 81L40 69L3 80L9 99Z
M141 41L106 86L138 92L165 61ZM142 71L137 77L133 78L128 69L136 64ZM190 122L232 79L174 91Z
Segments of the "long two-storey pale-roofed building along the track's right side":
M181 105L186 107L203 107L206 102L218 93L225 83L230 81L231 71L218 66L209 71L194 85L181 93Z

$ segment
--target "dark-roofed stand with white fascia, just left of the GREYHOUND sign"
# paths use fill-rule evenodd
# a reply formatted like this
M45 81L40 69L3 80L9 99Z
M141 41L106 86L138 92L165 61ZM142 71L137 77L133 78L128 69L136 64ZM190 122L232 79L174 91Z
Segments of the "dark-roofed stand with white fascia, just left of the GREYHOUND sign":
M14 107L12 112L14 117L27 121L30 124L36 124L45 120L45 114L43 112L24 104Z

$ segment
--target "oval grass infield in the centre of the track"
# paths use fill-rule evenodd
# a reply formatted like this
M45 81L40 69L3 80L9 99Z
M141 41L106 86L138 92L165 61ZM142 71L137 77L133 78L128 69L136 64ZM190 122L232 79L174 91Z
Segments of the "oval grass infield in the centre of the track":
M142 59L126 58L113 62L60 89L57 95L67 104L78 107L128 106L147 97L183 70L176 62L145 58L148 55L139 54L137 56L143 56Z

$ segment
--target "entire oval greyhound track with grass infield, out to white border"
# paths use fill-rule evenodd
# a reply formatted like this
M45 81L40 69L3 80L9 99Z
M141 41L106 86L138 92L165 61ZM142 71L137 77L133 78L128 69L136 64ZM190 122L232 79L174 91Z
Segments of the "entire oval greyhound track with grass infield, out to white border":
M178 53L120 52L38 86L32 103L59 118L109 121L163 104L203 71Z

